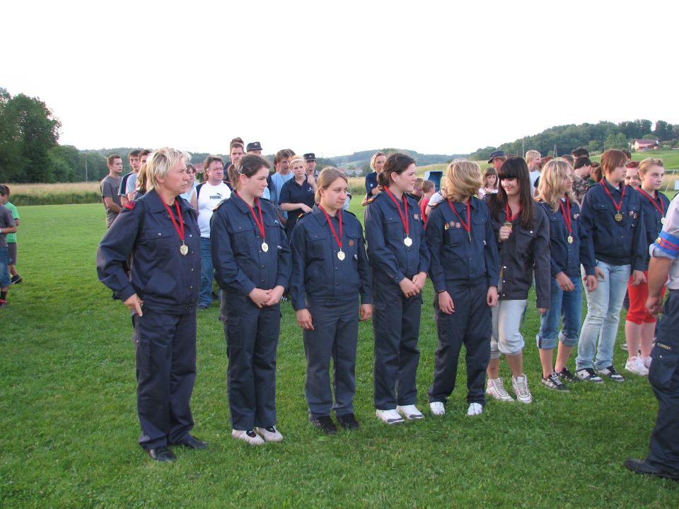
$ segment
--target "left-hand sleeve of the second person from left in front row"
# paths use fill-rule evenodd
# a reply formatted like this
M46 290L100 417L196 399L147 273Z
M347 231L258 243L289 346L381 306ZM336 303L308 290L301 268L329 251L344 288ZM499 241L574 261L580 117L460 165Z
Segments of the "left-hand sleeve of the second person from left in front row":
M214 266L214 277L220 288L236 284L245 295L257 286L245 275L233 256L231 247L231 235L226 228L228 216L226 207L221 206L212 214L210 219L210 249L212 252L212 264Z

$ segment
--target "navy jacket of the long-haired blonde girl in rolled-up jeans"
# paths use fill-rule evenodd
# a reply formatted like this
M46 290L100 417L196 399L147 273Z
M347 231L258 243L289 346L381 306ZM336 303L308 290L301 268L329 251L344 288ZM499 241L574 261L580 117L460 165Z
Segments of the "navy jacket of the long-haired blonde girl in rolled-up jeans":
M585 268L588 276L594 275L594 252L592 244L588 241L587 230L583 228L580 219L580 206L571 201L571 237L573 242L569 244L568 226L564 213L559 207L555 212L552 211L550 204L538 201L538 204L545 210L550 218L550 258L552 264L552 277L556 277L559 272L567 276L579 277L580 265ZM565 202L564 210L568 212Z

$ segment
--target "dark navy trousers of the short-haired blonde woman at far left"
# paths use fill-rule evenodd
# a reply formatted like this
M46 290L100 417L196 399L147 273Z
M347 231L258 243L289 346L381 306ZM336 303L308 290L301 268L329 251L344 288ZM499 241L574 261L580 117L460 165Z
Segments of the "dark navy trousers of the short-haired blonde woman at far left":
M137 344L139 445L182 443L193 428L190 401L196 380L196 312L182 315L144 308L134 317Z

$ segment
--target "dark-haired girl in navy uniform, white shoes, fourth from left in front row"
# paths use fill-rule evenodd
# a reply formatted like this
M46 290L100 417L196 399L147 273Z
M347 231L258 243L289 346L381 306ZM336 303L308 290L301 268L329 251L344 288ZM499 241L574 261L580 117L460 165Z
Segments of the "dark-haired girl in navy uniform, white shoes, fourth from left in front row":
M373 269L375 408L388 424L422 419L415 406L419 363L422 287L429 249L417 201L407 196L415 182L415 162L391 154L378 175L384 192L366 209L366 241ZM403 417L402 417L403 416Z

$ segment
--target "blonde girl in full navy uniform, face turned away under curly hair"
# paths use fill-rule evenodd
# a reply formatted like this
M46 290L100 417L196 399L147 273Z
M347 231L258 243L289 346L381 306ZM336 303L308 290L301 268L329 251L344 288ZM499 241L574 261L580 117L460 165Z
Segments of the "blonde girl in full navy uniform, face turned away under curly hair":
M451 163L446 170L446 199L434 206L426 227L434 283L434 313L439 347L429 407L446 413L455 389L460 348L467 351L468 415L486 404L484 380L490 359L491 313L497 305L497 245L488 207L476 197L481 169L471 161Z

